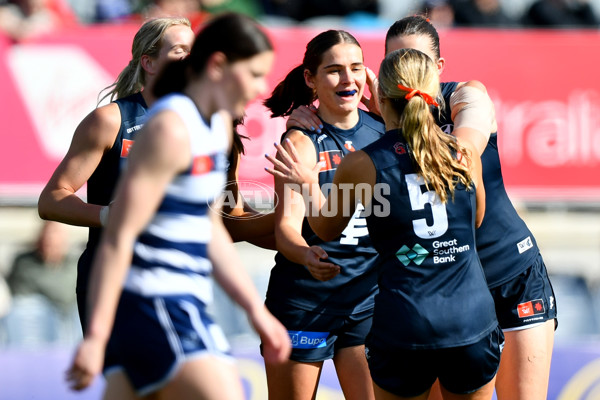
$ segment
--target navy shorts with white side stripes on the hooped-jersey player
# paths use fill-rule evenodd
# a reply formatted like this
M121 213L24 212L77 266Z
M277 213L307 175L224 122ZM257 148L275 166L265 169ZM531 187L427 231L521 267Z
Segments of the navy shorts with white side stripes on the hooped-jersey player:
M186 360L233 362L221 328L193 296L142 297L123 291L106 348L104 375L123 371L138 396L164 386Z

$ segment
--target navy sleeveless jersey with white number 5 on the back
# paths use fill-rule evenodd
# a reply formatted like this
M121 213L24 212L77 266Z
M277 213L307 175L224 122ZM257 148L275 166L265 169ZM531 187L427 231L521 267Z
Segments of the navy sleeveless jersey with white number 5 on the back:
M497 320L475 249L475 190L459 184L442 203L396 130L363 151L377 170L367 226L382 261L373 341L407 349L479 341Z

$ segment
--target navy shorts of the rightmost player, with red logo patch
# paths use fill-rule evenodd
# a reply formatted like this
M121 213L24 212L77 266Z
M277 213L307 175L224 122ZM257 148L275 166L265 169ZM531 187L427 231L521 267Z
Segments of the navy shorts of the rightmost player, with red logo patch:
M523 273L490 292L504 331L533 328L556 319L556 298L541 254Z

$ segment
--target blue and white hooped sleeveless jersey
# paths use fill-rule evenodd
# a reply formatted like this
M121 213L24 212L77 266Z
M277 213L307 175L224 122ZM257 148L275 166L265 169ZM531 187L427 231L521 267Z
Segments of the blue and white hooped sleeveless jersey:
M218 114L208 125L186 96L172 94L159 100L150 118L167 109L188 128L193 161L169 184L154 218L137 238L125 290L142 296L191 294L208 304L212 301L208 207L225 184L229 138Z

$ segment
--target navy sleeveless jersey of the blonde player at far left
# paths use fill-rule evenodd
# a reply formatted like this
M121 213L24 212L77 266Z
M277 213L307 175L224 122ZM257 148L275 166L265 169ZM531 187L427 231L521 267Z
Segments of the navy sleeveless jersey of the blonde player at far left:
M102 156L100 164L88 179L87 201L90 204L105 206L110 203L135 135L146 122L148 106L141 93L118 99L115 103L121 112L121 127L112 148ZM77 263L78 291L87 290L88 275L101 233L101 228L89 228L86 248Z

